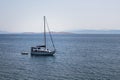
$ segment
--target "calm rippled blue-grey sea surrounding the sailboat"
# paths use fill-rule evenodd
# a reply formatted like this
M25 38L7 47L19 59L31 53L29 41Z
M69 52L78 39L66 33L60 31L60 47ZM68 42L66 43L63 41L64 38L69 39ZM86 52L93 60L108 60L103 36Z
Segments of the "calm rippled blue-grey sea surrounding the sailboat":
M42 34L0 34L0 80L120 80L120 34L54 34L53 40L54 56L32 56ZM53 49L49 37L47 47Z

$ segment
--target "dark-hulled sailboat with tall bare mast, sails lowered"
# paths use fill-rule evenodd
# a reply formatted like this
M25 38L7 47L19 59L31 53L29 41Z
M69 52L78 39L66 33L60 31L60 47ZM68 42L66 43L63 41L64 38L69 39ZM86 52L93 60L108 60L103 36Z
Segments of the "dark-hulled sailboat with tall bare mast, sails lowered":
M49 31L49 36L50 36L52 45L53 45L53 50L49 50L47 48L47 45L46 45L46 41L47 41L46 40L46 17L44 16L43 18L44 18L44 44L36 46L36 47L31 47L31 55L52 56L52 55L55 54L56 49L55 49L53 38L52 38L50 29L49 29L48 26L47 26L47 28L48 28L48 31Z

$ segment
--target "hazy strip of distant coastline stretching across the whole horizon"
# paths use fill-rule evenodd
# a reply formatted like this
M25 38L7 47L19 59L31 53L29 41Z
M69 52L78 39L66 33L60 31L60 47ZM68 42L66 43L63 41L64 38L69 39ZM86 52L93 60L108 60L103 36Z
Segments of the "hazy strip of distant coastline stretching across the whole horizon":
M0 34L41 34L41 33L0 31ZM62 31L62 32L52 31L51 33L52 34L120 34L120 30L76 30L76 31Z

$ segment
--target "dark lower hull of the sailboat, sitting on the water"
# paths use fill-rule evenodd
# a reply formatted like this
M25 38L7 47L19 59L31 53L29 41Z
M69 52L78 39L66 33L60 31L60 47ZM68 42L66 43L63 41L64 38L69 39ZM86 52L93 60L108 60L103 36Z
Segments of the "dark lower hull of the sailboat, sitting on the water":
M48 52L48 51L32 51L31 52L31 55L39 55L39 56L53 56L55 53L55 51L51 51L51 52Z

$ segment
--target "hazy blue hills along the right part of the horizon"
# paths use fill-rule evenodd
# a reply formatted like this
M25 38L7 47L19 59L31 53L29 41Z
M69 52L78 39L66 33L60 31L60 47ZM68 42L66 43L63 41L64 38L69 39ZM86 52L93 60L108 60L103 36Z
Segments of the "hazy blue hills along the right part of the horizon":
M78 30L73 32L78 34L120 34L120 30Z

